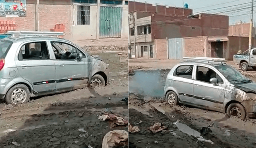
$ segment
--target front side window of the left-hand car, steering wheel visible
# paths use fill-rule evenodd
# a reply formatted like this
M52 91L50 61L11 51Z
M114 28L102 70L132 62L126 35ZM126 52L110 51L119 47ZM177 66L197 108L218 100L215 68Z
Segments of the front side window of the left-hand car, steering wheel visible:
M74 60L78 58L76 47L62 42L51 42L56 59Z

